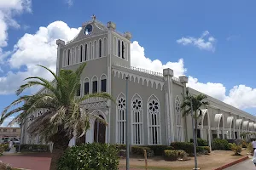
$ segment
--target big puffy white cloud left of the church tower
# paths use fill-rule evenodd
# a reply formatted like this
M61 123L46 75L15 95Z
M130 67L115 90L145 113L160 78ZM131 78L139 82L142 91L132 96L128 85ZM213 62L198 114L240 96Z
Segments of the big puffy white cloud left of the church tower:
M26 77L40 75L51 80L53 77L49 72L37 65L44 65L55 71L56 39L69 41L80 29L70 28L62 21L55 21L47 27L40 27L35 34L21 37L8 60L9 66L18 71L9 71L5 77L0 77L0 94L13 94ZM21 67L26 67L26 71L21 71Z

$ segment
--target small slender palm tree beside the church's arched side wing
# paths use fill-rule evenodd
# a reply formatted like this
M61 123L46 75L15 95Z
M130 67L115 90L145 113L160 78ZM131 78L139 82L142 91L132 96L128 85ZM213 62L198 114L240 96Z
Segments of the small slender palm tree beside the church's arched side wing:
M199 94L197 96L193 96L189 94L189 91L187 91L187 95L183 97L183 104L181 105L181 108L183 111L183 116L188 116L191 113L191 101L192 101L192 108L193 108L193 118L195 119L195 144L197 144L197 120L199 117L201 117L201 106L207 106L209 103L207 101L204 101L207 99L207 95L205 94ZM196 114L198 113L199 114Z

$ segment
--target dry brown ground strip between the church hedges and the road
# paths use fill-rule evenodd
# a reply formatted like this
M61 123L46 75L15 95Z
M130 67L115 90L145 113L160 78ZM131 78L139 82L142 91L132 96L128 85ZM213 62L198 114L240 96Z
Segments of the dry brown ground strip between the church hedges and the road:
M241 156L233 156L231 150L212 150L210 155L198 156L198 167L203 169L214 169L224 164L236 161L241 157L247 156L247 150L241 151ZM194 157L189 161L164 161L161 157L148 159L148 170L191 170L195 165ZM119 167L125 167L125 159L119 161ZM145 169L143 158L131 157L130 167L136 169Z

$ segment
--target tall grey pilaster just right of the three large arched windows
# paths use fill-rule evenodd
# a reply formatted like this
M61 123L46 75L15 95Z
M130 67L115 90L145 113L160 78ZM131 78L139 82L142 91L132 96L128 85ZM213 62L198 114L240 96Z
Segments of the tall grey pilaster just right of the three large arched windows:
M174 116L173 116L173 101L172 101L172 77L173 71L170 68L163 70L165 78L165 108L166 108L166 141L171 144L174 141Z

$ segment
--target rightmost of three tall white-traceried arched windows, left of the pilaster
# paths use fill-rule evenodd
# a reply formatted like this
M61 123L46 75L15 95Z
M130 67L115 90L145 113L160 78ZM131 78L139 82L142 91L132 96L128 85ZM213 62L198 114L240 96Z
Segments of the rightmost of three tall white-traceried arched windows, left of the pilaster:
M148 137L149 144L160 144L160 103L154 95L148 99Z

